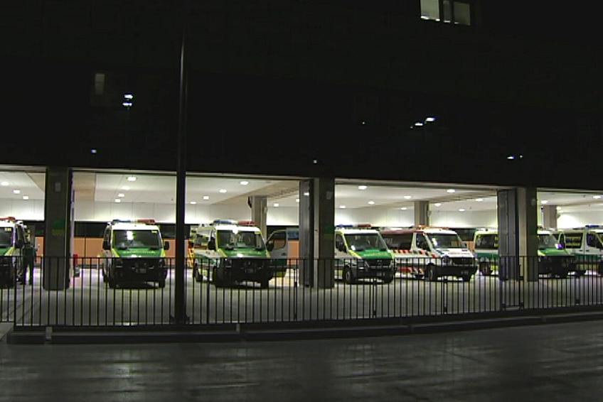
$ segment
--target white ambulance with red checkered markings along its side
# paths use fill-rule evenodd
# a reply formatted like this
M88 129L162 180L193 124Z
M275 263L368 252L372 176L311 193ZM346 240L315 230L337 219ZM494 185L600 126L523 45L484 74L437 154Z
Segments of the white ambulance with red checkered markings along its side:
M467 282L477 271L477 260L454 230L416 226L381 231L395 253L397 270L416 278L437 281L455 276Z

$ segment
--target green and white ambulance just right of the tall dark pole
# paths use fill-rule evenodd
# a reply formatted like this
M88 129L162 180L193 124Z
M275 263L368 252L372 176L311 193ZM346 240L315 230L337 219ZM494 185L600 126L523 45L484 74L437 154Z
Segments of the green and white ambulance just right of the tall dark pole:
M216 288L244 281L267 288L273 276L264 236L252 221L216 219L199 225L193 254L193 278L206 278Z

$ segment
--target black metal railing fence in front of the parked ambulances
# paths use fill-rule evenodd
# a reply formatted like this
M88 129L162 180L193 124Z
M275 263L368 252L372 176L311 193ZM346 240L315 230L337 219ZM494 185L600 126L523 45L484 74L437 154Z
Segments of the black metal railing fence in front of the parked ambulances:
M396 271L391 281L383 275L350 281L346 261L289 260L287 266L270 264L274 277L267 286L247 280L221 281L215 286L213 266L196 267L203 271L199 276L188 261L184 310L191 325L215 325L432 317L603 304L598 264L583 265L582 271L565 275L541 272L527 278L522 272L535 272L530 270L538 269L540 261L523 257L510 261L506 270L497 261L500 269L491 275L476 271L468 281L445 272L430 280L416 271ZM31 283L18 282L16 276L3 283L0 321L14 322L16 327L174 322L174 261L166 261L164 287L152 281L110 283L103 264L107 261L99 258L38 259ZM306 286L308 281L319 286Z

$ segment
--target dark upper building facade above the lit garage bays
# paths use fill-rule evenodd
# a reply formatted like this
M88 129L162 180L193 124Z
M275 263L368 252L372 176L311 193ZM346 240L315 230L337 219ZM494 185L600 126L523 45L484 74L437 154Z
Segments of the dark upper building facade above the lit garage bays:
M596 18L524 3L3 4L3 163L176 170L188 21L190 172L597 189Z

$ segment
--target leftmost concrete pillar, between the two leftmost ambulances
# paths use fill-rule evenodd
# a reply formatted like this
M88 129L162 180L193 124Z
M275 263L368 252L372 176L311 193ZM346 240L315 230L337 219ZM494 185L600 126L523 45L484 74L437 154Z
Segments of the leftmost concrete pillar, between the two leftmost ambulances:
M46 168L44 220L43 288L65 290L69 288L73 271L73 171L70 168Z

